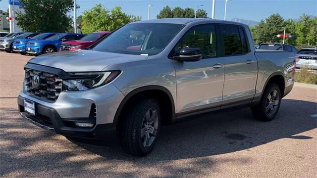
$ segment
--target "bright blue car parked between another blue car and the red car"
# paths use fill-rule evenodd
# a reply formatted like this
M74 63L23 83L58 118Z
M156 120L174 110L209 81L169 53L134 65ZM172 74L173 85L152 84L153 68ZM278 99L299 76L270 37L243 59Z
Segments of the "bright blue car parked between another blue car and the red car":
M62 42L79 40L84 36L83 34L61 33L53 35L46 40L32 40L27 43L26 52L33 55L57 52Z

